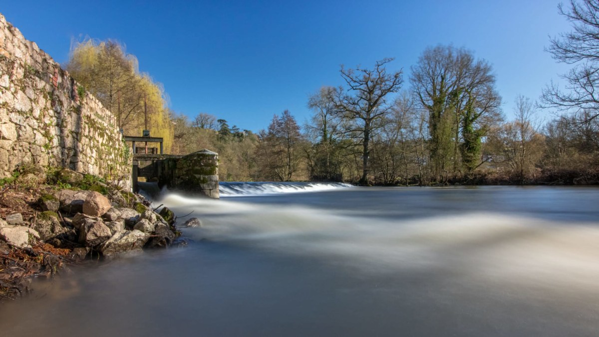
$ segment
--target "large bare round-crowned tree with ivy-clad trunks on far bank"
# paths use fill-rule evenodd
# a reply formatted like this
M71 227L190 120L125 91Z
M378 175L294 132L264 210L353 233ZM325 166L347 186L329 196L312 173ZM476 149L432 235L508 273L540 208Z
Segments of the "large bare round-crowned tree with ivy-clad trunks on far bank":
M426 49L412 67L411 82L428 111L432 173L443 179L453 162L470 171L480 163L480 142L501 119L501 97L491 65L452 46Z

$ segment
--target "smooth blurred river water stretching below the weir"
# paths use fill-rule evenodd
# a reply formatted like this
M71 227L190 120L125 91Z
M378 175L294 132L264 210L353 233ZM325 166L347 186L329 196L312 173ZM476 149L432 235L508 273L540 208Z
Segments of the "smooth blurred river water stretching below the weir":
M599 335L599 188L161 203L202 220L195 243L40 282L0 336Z

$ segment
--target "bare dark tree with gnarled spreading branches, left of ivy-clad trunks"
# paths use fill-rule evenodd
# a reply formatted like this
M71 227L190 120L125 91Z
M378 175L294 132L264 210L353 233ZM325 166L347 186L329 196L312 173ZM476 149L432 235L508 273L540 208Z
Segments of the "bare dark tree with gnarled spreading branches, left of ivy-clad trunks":
M385 116L392 107L388 95L398 92L403 83L402 71L388 74L386 64L393 61L386 58L377 61L374 69L356 67L346 69L341 66L341 77L346 82L347 91L342 87L329 92L329 100L340 111L341 118L348 122L346 132L355 133L362 144L362 176L359 183L368 185L368 158L370 137L376 122Z

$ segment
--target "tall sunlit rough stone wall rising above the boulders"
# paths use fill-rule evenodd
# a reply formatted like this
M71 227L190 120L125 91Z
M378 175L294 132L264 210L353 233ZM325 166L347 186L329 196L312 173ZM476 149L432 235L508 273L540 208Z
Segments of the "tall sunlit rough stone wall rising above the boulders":
M114 116L0 14L0 177L23 163L130 185Z

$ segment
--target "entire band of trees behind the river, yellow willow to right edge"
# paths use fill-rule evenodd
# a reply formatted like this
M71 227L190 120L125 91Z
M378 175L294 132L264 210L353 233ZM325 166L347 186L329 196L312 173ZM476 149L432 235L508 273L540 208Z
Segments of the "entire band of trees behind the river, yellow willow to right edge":
M167 151L218 152L221 180L597 183L598 9L599 0L559 7L575 29L553 38L549 52L574 65L562 76L568 91L549 85L540 103L519 96L507 121L491 65L453 46L426 49L406 81L403 70L388 71L392 59L342 66L341 86L308 99L313 115L306 125L285 111L258 134L207 113L170 112L161 86L112 41L78 44L67 68L126 131L138 134L150 116ZM543 120L541 112L553 117Z

